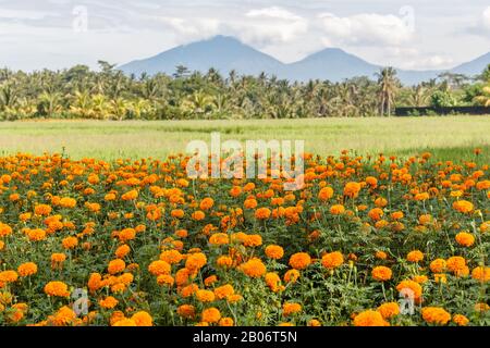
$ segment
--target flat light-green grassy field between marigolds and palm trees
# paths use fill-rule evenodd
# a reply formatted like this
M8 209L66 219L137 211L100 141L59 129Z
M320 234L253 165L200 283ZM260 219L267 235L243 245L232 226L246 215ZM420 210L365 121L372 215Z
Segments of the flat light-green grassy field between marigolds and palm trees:
M37 121L0 123L1 154L64 152L72 158L166 157L184 152L189 140L303 139L307 151L327 156L343 149L359 154L409 156L432 151L438 158L489 159L490 117L308 119L257 121Z

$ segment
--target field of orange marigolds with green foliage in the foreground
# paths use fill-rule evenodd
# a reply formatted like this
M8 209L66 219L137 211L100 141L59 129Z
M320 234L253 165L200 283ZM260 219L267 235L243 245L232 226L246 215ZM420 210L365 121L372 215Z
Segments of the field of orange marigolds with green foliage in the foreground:
M183 156L0 158L0 323L489 325L478 154L307 154L296 191Z

